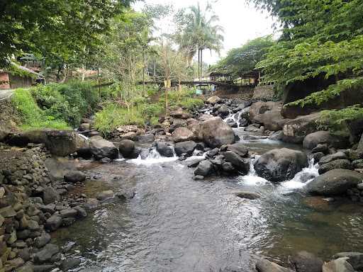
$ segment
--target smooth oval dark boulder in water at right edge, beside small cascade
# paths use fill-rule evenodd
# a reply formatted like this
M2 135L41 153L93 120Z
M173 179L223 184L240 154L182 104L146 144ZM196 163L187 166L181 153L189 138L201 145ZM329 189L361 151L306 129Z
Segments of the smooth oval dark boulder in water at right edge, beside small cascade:
M318 196L340 196L362 183L363 174L347 169L333 169L308 183L308 193Z

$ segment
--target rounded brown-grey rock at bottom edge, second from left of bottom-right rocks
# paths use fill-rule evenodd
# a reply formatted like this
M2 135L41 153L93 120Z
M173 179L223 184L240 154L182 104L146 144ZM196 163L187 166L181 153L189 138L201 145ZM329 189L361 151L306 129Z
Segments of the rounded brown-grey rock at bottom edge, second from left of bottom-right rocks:
M296 272L321 272L323 261L307 251L289 256L289 262Z

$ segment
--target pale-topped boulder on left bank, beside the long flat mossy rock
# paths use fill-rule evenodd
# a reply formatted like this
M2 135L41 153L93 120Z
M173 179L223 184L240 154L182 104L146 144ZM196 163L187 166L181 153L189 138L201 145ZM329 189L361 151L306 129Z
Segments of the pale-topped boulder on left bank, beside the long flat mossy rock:
M89 148L96 159L118 158L117 147L112 142L104 140L100 136L94 136L89 139Z

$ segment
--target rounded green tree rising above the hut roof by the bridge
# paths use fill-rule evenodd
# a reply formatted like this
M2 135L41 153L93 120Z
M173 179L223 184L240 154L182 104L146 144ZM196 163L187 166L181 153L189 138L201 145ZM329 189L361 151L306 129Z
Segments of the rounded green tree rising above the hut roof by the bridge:
M242 47L230 50L227 56L211 67L210 70L240 77L242 74L255 69L257 63L264 59L274 43L271 35L249 40Z

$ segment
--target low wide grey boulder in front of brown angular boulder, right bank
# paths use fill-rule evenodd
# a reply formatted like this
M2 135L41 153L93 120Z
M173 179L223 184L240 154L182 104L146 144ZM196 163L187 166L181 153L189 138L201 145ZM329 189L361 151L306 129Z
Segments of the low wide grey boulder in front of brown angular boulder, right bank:
M303 147L306 149L313 149L319 144L327 144L328 147L345 148L349 145L349 141L343 137L333 135L328 131L313 132L303 140Z

